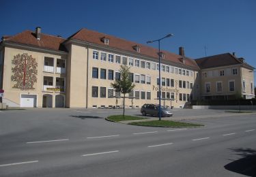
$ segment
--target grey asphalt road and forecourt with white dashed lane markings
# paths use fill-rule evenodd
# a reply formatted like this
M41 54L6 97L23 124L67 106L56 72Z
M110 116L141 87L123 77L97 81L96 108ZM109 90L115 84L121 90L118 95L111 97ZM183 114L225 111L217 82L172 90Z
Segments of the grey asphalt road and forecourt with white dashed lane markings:
M173 110L173 118L205 125L191 129L104 120L120 113L1 111L0 176L256 176L256 114Z

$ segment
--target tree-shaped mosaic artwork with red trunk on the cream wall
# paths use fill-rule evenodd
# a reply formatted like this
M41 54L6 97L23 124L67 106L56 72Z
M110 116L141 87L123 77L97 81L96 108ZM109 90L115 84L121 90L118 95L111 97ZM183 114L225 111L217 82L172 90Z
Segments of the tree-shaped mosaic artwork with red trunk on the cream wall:
M33 85L38 78L38 63L32 55L17 54L12 59L12 77L11 80L16 82L12 88L20 88L23 90L35 89Z

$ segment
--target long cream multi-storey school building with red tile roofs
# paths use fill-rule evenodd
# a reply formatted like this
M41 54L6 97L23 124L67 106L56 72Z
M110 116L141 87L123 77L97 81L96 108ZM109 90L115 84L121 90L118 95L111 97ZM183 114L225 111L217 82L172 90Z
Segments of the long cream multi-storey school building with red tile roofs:
M9 106L119 107L120 93L110 83L120 78L120 65L130 66L130 78L136 84L134 91L127 95L130 99L126 100L126 107L158 103L158 49L150 46L87 29L64 39L46 35L37 27L35 31L3 36L0 51L0 88L5 91L3 102ZM253 74L247 70L254 68L246 63L224 66L219 60L218 66L205 66L209 59L190 59L185 56L184 48L179 49L179 54L162 50L160 57L160 89L165 106L180 108L191 99L214 98L217 96L213 92L215 80L223 83L223 93L219 95L230 95L225 91L225 84L230 80L236 80L235 84L239 79L245 80L245 84L253 82ZM206 80L202 76L219 68L227 69L228 73L229 67L237 67L239 74L232 76L234 79L223 76L227 82L214 77ZM209 86L208 82L212 84ZM204 86L210 87L210 93L205 93Z

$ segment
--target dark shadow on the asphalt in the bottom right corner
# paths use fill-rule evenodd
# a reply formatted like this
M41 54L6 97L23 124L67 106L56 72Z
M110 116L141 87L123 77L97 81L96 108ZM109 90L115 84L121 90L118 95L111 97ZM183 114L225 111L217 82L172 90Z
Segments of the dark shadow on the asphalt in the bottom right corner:
M251 148L231 148L242 159L233 161L225 165L225 169L246 176L256 176L256 150Z

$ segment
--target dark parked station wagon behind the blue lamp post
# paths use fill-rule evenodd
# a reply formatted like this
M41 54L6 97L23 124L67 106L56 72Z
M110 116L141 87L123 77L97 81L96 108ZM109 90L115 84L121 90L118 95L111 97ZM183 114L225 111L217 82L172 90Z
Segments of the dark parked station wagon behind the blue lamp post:
M152 116L158 116L159 112L159 106L155 105L155 104L144 104L141 107L141 114L143 116L149 114ZM165 108L164 106L161 106L161 116L173 116L173 113L171 112L171 110Z

